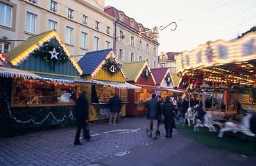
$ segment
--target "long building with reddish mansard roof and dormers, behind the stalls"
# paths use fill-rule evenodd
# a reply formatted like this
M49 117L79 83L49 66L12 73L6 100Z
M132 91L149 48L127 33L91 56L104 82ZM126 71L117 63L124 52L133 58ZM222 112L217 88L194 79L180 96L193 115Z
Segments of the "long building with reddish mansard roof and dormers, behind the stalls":
M150 68L157 68L160 44L156 39L151 40L150 33L139 37L139 32L148 29L112 6L106 6L105 12L117 19L114 24L113 48L120 64L146 60Z

